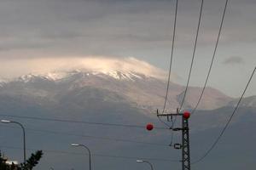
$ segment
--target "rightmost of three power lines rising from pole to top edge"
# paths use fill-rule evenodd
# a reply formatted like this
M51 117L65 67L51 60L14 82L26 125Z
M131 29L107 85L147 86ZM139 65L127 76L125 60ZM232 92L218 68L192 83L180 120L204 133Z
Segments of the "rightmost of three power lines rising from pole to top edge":
M223 27L223 23L224 23L224 16L225 16L225 13L226 13L226 9L227 9L227 6L228 6L228 2L229 2L229 0L226 0L226 3L225 3L225 5L224 5L224 12L223 12L222 19L221 19L221 23L220 23L219 30L218 30L218 37L217 37L217 41L216 41L215 48L214 48L214 51L213 51L212 61L211 61L211 64L210 64L210 67L209 67L209 70L208 70L208 73L207 73L207 79L206 79L206 82L205 82L205 84L204 84L204 87L203 87L203 89L202 89L202 91L201 91L200 97L199 97L199 99L198 99L198 101L197 101L197 103L196 103L196 105L195 105L195 108L194 108L193 111L191 111L191 114L194 114L194 113L195 113L195 111L196 111L198 105L199 105L200 102L201 102L201 98L202 98L202 96L203 96L203 94L204 94L204 92L205 92L205 89L206 89L206 87L207 87L207 82L208 82L208 79L209 79L209 77L210 77L210 73L211 73L211 71L212 71L212 64L213 64L213 61L214 61L214 59L215 59L216 51L217 51L217 48L218 48L218 41L219 41L220 33L221 33L221 31L222 31L222 27Z

